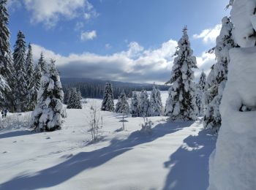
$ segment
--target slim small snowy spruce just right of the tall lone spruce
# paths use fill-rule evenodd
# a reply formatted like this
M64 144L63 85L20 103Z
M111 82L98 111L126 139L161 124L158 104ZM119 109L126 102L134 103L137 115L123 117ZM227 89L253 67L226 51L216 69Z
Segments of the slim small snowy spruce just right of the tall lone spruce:
M206 86L206 73L202 72L200 75L199 82L197 84L197 93L196 93L198 116L202 116L205 110L204 100L203 100L205 86Z

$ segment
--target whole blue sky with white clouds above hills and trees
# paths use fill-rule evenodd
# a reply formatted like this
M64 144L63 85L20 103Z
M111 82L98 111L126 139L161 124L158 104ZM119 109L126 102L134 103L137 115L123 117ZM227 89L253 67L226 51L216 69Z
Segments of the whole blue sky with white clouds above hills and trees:
M99 78L130 80L131 77L133 82L161 83L165 77L157 80L157 77L144 76L148 71L146 66L155 68L150 75L161 75L157 67L162 71L171 68L172 58L167 54L173 50L167 48L175 46L184 25L189 28L200 69L209 69L213 56L203 55L203 52L214 47L220 29L218 24L223 16L229 15L224 9L226 4L227 1L222 0L10 0L11 43L14 44L16 34L21 30L26 41L33 44L35 59L39 51L44 51L46 57L52 56L59 61L60 70L61 66L67 65L82 67L78 66L72 75L67 70L62 71L64 77L91 77L86 71L81 73L80 69L101 70L100 65L109 62L103 67L124 64L128 71L120 68L121 71L116 72L127 77L113 72ZM157 56L152 57L154 53ZM99 61L95 63L97 59ZM129 66L132 69L127 69ZM142 75L141 81L140 77L133 77L132 72L137 67L141 69L137 73ZM96 74L101 75L97 71L93 76Z

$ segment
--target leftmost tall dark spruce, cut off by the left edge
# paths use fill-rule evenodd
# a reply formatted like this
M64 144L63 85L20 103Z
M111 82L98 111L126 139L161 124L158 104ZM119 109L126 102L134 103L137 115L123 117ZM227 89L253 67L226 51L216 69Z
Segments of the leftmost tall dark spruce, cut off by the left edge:
M11 81L13 80L12 53L10 50L10 31L7 27L9 14L7 0L0 0L0 107L14 110Z

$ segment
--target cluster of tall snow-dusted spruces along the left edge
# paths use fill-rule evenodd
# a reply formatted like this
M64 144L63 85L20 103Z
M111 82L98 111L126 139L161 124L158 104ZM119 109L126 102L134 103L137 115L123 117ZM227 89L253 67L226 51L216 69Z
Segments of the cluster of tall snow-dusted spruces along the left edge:
M31 127L39 131L60 129L66 116L63 91L55 61L47 64L41 54L34 66L32 48L18 31L13 53L7 0L0 1L0 107L12 112L33 110Z

